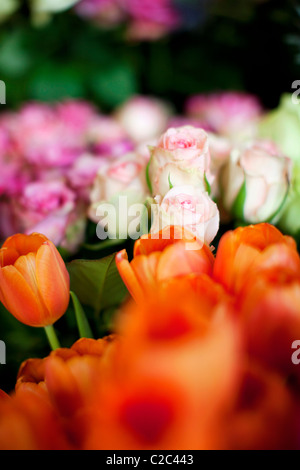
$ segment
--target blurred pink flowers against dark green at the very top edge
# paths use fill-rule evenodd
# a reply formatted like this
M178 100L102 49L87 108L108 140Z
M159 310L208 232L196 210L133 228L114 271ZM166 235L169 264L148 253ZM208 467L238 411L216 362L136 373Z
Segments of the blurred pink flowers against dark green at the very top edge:
M127 22L128 37L137 40L158 39L181 24L173 0L81 0L75 8L102 27Z

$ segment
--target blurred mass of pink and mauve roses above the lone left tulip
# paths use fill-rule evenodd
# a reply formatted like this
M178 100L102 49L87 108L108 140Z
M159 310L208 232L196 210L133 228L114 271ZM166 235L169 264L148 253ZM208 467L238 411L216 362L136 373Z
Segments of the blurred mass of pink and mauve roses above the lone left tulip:
M135 105L137 122L152 116L147 120L148 135L145 129L138 132L132 119L134 132L126 127L126 114L132 114ZM145 97L134 97L111 116L99 113L89 103L72 100L55 105L28 103L18 112L3 113L0 238L36 231L75 251L84 240L99 172L109 172L120 157L124 159L138 146L143 149L143 154L137 151L136 156L143 171L147 138L164 131L168 116L163 103ZM115 187L123 179L124 171L115 173ZM108 197L103 188L101 194Z

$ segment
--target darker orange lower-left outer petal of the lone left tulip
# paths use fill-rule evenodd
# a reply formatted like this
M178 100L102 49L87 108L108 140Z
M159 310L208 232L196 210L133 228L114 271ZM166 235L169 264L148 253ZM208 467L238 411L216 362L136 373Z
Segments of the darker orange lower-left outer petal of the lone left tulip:
M0 270L0 292L5 308L30 326L45 326L45 310L24 277L14 266Z

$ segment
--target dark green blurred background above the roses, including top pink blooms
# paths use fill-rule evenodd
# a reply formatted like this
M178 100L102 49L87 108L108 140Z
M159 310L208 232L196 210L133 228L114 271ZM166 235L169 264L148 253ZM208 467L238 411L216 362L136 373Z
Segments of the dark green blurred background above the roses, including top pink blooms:
M272 108L300 63L296 0L1 0L0 19L9 108L72 97L110 111L147 94L180 111L216 89Z

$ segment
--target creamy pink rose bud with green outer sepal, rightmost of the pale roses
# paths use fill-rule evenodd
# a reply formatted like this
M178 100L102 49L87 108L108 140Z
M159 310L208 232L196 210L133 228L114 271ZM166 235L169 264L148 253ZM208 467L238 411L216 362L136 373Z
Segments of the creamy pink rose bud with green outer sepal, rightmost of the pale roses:
M236 148L222 175L224 207L248 223L274 222L290 187L290 160L269 142Z

